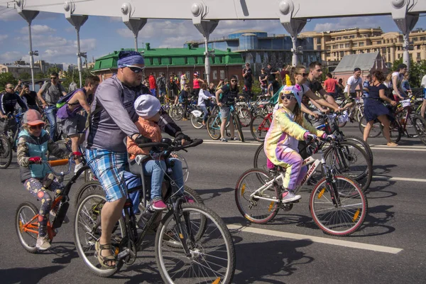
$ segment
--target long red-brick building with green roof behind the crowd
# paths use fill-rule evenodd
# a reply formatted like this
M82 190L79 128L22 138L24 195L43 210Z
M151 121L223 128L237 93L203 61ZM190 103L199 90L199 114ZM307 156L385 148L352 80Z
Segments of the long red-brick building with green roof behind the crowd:
M151 72L155 77L160 73L165 73L166 78L172 74L182 75L185 73L192 84L192 74L200 72L200 77L205 79L204 69L204 48L151 48L146 43L146 48L139 48L145 58L145 75ZM111 77L117 70L117 60L120 51L114 51L102 58L97 58L92 72L103 81ZM215 50L214 58L210 58L210 81L217 84L219 80L236 75L241 78L241 70L244 60L239 53L231 50Z

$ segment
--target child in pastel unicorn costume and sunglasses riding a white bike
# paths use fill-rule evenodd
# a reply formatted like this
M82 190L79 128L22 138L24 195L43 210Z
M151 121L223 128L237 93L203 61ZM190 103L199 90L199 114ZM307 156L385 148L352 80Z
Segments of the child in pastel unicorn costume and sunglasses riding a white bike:
M283 193L283 203L300 199L300 195L295 195L294 191L307 173L306 166L302 166L303 159L298 150L299 141L327 136L323 131L315 129L302 116L300 92L298 84L295 86L287 84L281 90L278 98L280 108L273 114L271 126L265 136L268 164L273 163L286 169L283 186L287 191Z

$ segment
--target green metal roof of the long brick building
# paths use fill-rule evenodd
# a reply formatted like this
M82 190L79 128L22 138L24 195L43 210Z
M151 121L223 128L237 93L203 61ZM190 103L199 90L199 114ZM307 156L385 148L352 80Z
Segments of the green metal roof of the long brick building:
M116 69L120 51L114 51L114 53L97 58L93 71ZM143 53L146 67L204 65L204 48L149 48L148 46L148 48L138 48L138 51ZM214 54L215 57L210 58L211 65L244 65L240 53L233 53L229 50L215 50Z

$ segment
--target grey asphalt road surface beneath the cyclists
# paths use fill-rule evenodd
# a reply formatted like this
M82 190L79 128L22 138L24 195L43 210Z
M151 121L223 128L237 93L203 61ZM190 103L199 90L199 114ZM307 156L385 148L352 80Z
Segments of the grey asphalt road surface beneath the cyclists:
M205 129L192 128L190 121L179 124L192 138L205 139L201 146L182 153L190 167L187 185L231 229L236 248L234 283L425 283L426 146L420 140L403 138L398 148L385 146L384 138L369 141L376 146L368 216L353 235L332 237L310 217L310 188L302 190L299 204L290 212L279 212L273 222L246 222L236 208L234 187L239 175L252 168L258 144L253 139L211 141ZM354 124L343 131L361 136ZM0 180L0 283L162 283L153 244L112 278L93 275L75 251L71 224L62 226L51 251L27 253L13 221L18 204L36 201L19 182L16 158L8 169L0 170ZM81 184L73 187L72 201ZM74 213L70 207L69 216Z

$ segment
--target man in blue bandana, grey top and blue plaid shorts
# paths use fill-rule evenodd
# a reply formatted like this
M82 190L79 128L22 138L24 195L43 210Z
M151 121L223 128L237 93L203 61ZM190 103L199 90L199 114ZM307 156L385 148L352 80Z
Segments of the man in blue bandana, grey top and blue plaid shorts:
M140 53L123 50L119 53L116 75L104 80L94 94L90 108L86 158L94 175L104 188L107 203L102 207L102 235L95 244L99 263L114 268L116 259L111 252L111 233L121 217L127 189L124 170L127 163L124 138L138 143L151 141L139 134L135 121L138 115L133 107L135 99L143 94L141 82L145 62ZM190 140L182 133L165 111L160 111L160 129L177 140Z

